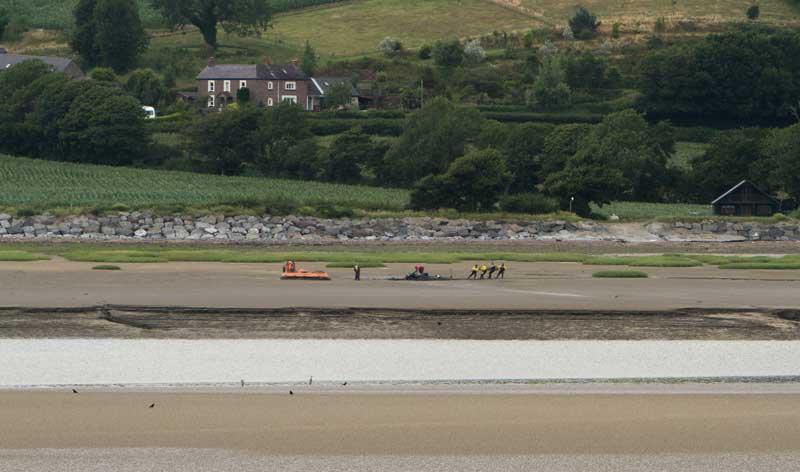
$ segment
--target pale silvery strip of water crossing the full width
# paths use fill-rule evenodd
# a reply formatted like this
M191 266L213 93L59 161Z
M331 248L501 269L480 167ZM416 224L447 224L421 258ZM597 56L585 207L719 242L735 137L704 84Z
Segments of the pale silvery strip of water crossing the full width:
M781 377L800 341L0 339L0 387Z

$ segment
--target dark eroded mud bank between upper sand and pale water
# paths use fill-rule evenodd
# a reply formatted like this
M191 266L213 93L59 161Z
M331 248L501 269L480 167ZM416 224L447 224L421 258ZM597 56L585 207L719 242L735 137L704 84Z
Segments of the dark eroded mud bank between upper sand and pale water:
M800 310L0 308L0 338L799 340Z

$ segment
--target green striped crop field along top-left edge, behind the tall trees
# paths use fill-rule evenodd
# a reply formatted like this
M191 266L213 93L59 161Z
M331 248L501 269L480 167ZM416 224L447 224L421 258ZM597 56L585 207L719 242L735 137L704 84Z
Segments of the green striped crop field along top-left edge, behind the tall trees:
M341 0L271 0L275 13L308 8ZM72 10L78 0L0 0L0 9L24 17L34 28L67 29L72 25ZM151 6L150 0L136 0L139 15L146 27L162 24L161 15Z

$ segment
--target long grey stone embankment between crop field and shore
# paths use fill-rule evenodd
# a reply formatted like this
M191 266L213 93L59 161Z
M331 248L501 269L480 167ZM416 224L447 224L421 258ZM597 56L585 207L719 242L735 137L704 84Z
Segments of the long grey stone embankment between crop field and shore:
M426 240L800 241L796 223L612 223L446 218L322 219L303 216L0 214L0 239L309 242Z

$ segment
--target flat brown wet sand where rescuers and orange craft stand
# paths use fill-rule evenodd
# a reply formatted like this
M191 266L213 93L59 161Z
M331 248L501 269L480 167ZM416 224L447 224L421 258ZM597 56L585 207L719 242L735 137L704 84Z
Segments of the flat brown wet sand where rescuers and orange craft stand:
M681 308L793 308L800 306L800 271L646 268L649 279L593 279L619 267L574 263L513 263L505 280L407 282L409 265L329 269L329 282L281 281L280 264L119 264L93 271L91 263L0 263L0 306L98 305L212 308L394 308L518 310L675 310ZM325 264L303 264L309 270ZM434 265L433 274L466 276L469 264Z

